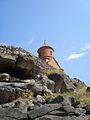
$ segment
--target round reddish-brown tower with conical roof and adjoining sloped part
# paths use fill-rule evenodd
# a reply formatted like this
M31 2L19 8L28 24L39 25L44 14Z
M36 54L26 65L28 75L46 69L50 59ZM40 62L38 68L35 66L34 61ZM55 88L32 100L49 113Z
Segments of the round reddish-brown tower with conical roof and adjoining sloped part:
M47 64L51 65L56 69L61 69L60 65L53 56L54 49L50 47L48 44L46 44L45 40L44 40L44 44L38 49L37 52L38 52L38 57L44 60Z

